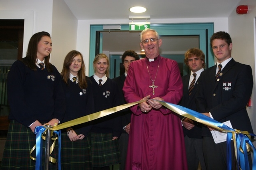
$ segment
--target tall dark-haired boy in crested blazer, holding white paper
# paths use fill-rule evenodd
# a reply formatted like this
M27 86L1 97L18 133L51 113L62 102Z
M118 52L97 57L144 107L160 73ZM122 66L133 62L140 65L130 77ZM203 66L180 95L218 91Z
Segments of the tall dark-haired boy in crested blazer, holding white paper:
M217 63L203 71L198 79L198 112L220 123L230 121L233 128L253 133L246 111L253 87L252 69L231 57L232 40L228 33L214 33L210 43ZM206 168L226 170L226 142L215 144L210 130L205 127L202 133ZM236 168L234 162L232 166Z

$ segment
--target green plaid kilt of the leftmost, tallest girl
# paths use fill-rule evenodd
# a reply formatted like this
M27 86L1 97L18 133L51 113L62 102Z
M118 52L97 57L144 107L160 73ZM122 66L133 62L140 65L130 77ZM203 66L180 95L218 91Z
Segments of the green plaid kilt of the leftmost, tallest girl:
M36 161L30 158L30 150L36 144L36 135L30 128L18 123L10 121L6 143L4 146L4 154L1 163L1 170L35 170ZM38 149L38 148L36 148ZM44 169L45 141L43 140L42 168ZM36 158L36 150L31 154ZM56 164L50 162L50 170L58 169L58 142L50 155L57 159Z

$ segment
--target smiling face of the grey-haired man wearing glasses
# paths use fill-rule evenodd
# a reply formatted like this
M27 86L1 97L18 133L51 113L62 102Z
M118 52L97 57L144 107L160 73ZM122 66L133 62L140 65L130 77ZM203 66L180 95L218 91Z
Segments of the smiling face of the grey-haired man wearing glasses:
M156 33L153 31L144 32L142 35L142 42L140 43L140 47L145 50L145 54L147 58L154 59L159 55L159 47L162 45L162 40L156 40L155 42L151 42L150 39L158 39ZM147 43L144 43L144 40L149 40Z

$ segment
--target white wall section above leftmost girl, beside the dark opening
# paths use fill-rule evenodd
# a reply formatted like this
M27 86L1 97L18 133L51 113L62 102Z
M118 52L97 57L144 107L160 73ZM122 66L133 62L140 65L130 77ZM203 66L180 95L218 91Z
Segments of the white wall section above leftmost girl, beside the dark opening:
M52 1L0 0L0 19L25 19L23 57L33 34L40 31L52 34Z

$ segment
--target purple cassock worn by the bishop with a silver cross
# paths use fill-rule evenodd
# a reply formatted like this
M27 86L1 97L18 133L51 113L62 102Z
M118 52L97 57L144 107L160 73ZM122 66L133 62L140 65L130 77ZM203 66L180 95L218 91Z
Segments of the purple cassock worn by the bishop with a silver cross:
M148 66L148 68L147 68ZM154 88L152 82L154 81ZM154 89L154 95L153 95ZM176 61L161 57L130 64L123 87L128 103L147 95L177 104L182 98L182 79ZM186 153L180 118L165 107L142 113L132 111L126 170L186 170Z

